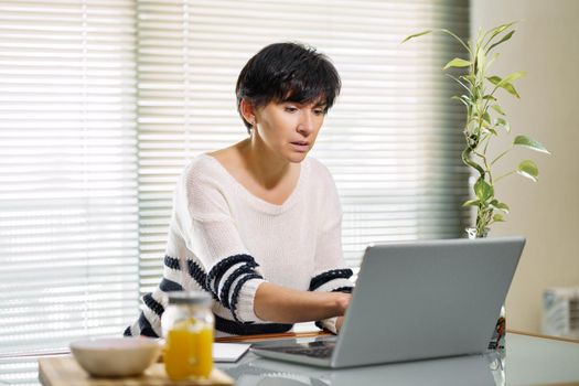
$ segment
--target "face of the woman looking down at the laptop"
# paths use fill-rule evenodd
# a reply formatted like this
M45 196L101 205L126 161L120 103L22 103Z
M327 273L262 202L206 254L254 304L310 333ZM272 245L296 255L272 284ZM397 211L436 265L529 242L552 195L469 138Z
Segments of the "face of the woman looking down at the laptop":
M271 101L255 110L254 136L287 161L301 162L312 149L324 117L323 105Z

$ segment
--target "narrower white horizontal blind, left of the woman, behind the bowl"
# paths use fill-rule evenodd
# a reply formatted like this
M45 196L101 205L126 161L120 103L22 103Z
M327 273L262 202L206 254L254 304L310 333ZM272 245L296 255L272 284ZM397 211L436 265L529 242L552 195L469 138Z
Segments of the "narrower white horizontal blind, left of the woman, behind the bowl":
M132 1L0 0L0 356L133 318L135 114Z

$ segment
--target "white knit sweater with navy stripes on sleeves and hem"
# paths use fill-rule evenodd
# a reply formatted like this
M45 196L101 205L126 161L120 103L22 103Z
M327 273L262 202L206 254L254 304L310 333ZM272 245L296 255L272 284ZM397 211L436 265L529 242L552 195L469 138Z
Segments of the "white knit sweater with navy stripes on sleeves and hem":
M162 281L143 297L141 315L125 334L161 336L168 291L211 292L217 335L226 335L292 328L255 314L255 292L264 281L297 290L352 290L333 179L312 158L300 167L294 191L275 205L249 193L215 158L193 160L176 185ZM322 325L335 332L334 320Z

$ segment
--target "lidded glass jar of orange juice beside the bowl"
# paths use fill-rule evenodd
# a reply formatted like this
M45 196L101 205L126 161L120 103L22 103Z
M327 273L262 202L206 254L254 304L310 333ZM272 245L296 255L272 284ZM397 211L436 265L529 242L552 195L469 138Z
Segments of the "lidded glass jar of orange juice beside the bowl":
M212 298L201 291L168 292L168 297L169 305L161 318L167 375L172 380L206 378L213 369Z

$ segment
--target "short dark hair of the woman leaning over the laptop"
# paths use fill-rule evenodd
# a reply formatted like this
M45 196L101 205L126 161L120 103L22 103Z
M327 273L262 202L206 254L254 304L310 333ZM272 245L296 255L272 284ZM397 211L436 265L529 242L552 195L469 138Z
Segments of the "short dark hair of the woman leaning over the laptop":
M324 112L340 94L340 75L328 56L299 43L275 43L259 51L239 73L235 94L242 115L242 99L255 107L270 101L324 105ZM249 130L251 125L245 120Z

